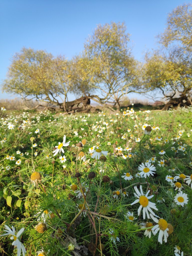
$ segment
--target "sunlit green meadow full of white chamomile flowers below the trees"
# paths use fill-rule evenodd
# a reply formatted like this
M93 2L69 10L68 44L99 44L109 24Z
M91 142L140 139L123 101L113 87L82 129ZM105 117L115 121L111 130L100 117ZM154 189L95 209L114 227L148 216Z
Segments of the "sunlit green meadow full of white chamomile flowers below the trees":
M192 255L191 116L2 108L0 254Z

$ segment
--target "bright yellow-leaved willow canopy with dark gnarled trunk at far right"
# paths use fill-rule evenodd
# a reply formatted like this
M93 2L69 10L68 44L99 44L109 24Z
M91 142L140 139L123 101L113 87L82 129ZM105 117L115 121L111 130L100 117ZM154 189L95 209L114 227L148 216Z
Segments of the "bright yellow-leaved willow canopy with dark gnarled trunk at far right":
M150 96L161 97L170 106L191 104L192 89L192 55L182 48L174 49L169 54L154 53L146 56L143 66L143 83L151 88ZM154 93L153 93L154 92Z

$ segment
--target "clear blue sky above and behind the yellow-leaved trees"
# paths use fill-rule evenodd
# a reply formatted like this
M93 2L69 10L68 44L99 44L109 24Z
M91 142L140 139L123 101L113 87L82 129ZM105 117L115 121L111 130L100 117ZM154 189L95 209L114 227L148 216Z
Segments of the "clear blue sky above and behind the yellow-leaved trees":
M71 58L97 24L125 22L131 34L136 59L147 49L157 48L156 38L166 19L181 0L1 0L0 81L5 79L12 56L22 47L31 47ZM133 95L134 96L134 95ZM15 98L1 93L0 99Z

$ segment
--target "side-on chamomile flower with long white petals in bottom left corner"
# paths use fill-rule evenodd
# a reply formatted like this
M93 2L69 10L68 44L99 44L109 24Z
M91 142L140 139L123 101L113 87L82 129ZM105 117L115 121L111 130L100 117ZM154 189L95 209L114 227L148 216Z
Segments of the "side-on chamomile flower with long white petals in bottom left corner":
M5 234L3 234L1 236L12 235L12 237L10 237L10 239L14 240L12 245L17 246L17 256L21 255L21 251L23 253L23 256L25 256L25 253L26 253L25 247L22 244L22 242L20 242L19 239L18 239L18 237L20 237L20 235L23 233L24 228L21 228L17 232L17 234L15 234L15 228L13 226L12 226L12 230L7 225L5 225L5 228L6 229L4 229L4 231L7 232L7 233L5 233Z

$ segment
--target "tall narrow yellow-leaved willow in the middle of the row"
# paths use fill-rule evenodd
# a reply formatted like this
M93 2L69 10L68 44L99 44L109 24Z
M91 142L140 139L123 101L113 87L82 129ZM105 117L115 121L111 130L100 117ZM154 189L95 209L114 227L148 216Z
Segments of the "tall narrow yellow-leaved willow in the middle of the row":
M137 62L128 47L130 35L124 23L98 25L85 44L85 55L94 68L93 100L120 108L124 94L139 92Z

